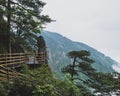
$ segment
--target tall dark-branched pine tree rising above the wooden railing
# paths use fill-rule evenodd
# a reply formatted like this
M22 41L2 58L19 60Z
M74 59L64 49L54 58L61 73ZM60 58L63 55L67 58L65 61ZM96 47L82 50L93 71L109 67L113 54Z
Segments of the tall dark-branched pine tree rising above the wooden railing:
M18 43L17 48L22 49L30 48L30 42L35 45L35 33L40 33L43 25L51 22L48 15L41 14L44 5L40 0L0 0L0 21L7 26L3 27L8 35L7 51L11 52L11 46L17 46Z

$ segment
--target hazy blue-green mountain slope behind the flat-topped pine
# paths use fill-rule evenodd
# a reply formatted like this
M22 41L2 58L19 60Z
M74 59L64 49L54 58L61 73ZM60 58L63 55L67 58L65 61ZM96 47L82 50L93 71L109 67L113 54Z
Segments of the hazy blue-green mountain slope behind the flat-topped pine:
M42 32L42 36L46 41L46 46L49 52L49 65L55 73L59 74L63 66L70 64L71 60L66 55L73 50L90 51L91 58L95 61L93 67L98 71L114 71L112 66L117 64L116 61L86 44L74 42L58 33L49 31Z

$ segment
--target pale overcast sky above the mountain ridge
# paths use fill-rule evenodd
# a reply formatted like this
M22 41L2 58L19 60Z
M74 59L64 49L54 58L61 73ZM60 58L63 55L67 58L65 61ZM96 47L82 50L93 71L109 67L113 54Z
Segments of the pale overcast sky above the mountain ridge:
M83 42L120 62L120 0L43 0L56 22L45 30Z

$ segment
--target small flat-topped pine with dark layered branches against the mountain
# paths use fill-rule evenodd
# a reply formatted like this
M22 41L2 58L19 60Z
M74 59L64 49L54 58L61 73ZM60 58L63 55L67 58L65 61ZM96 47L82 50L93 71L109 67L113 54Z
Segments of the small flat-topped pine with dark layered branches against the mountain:
M73 63L64 67L62 71L70 73L73 79L74 75L79 75L80 73L87 75L95 71L91 66L94 61L90 59L89 51L71 51L68 53L68 56L73 58Z

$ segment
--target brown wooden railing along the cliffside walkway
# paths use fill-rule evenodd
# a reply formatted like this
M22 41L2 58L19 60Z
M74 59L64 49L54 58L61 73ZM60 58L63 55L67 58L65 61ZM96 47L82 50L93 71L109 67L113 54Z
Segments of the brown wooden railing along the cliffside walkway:
M14 68L23 64L42 64L46 62L46 52L0 54L0 80L10 80L22 74Z

